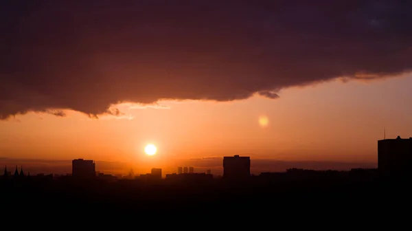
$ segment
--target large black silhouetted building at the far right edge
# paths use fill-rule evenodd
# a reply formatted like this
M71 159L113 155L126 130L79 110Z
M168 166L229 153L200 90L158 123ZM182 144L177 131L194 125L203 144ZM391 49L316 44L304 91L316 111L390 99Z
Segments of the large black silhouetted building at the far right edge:
M378 140L378 171L384 177L412 175L412 137Z

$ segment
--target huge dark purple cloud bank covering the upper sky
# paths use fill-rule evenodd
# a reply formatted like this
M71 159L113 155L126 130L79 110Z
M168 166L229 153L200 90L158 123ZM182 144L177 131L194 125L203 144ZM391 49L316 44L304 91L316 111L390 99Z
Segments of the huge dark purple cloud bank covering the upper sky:
M0 118L236 100L412 67L411 1L0 3Z

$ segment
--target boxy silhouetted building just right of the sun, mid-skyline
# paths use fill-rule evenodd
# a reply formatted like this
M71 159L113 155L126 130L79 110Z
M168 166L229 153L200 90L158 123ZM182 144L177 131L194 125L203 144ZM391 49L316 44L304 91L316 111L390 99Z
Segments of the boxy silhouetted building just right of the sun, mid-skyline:
M244 179L251 176L251 157L223 157L223 177Z

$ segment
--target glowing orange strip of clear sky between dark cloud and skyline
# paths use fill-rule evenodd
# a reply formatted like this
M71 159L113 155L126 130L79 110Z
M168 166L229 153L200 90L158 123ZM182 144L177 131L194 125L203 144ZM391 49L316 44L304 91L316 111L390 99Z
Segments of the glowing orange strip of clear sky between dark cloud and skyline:
M255 159L376 162L377 140L412 136L411 76L370 83L334 80L284 89L280 98L234 102L159 102L99 120L28 113L0 121L0 156L128 161L174 165L173 159L248 153ZM268 118L268 126L259 117ZM144 154L153 143L155 156ZM176 164L177 165L177 164Z

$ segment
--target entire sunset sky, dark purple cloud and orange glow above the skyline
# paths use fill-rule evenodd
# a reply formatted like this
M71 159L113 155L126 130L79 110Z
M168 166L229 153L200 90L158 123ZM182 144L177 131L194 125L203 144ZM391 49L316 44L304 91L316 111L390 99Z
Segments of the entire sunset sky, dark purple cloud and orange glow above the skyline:
M0 157L376 163L412 137L407 1L0 4Z

